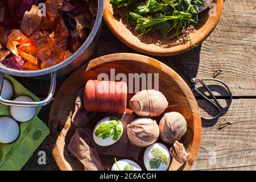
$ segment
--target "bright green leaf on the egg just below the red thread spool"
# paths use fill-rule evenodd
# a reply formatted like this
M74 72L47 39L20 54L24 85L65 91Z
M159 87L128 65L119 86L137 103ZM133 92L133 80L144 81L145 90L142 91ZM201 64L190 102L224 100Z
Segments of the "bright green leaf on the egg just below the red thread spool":
M95 135L102 139L106 139L111 136L114 141L117 141L119 135L122 133L122 128L118 127L120 124L122 124L120 119L109 118L109 121L103 122L98 126L95 131Z

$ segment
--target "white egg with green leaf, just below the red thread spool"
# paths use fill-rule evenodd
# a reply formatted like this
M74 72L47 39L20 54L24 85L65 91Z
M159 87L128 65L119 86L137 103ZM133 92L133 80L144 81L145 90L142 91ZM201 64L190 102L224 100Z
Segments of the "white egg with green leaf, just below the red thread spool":
M97 143L99 146L110 146L110 145L114 144L115 142L117 142L117 141L121 138L121 136L122 136L122 134L123 134L123 125L122 125L122 122L120 121L120 123L119 123L119 125L117 125L117 127L121 127L122 131L121 131L121 134L118 136L118 139L117 139L117 140L114 140L112 135L110 135L110 137L105 138L105 139L103 139L102 137L97 137L97 136L95 135L95 132L96 132L96 130L98 129L98 127L101 125L101 123L107 123L107 124L109 124L110 118L117 119L117 118L115 118L115 117L106 117L106 118L102 119L100 122L98 122L97 125L96 125L96 127L95 127L94 130L93 130L93 139L94 139L94 142ZM118 119L118 120L119 120L119 119ZM113 131L113 129L111 130L111 132L112 132L112 131Z

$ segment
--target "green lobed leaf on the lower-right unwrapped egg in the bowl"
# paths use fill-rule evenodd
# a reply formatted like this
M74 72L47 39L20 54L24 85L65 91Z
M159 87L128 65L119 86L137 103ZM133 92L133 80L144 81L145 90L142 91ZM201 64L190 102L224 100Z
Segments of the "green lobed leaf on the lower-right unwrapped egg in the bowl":
M150 159L150 168L151 169L158 169L161 164L168 163L168 157L167 155L163 154L163 151L159 148L152 148L151 154L154 156L152 159Z

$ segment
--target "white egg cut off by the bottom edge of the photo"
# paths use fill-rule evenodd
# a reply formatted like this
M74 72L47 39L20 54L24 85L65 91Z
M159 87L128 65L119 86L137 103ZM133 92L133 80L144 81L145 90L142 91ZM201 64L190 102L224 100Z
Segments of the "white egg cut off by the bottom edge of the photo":
M133 169L129 168L131 166ZM118 160L117 163L114 163L111 170L112 171L120 171L120 170L121 171L142 171L141 167L139 167L137 163L129 159Z

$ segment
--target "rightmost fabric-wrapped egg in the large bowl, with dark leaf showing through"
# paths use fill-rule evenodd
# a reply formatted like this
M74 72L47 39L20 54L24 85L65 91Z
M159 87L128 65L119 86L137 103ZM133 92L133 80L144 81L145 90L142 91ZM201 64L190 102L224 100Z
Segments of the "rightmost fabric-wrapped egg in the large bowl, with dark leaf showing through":
M177 112L164 114L159 123L160 138L166 143L180 140L187 131L187 122L183 115Z

